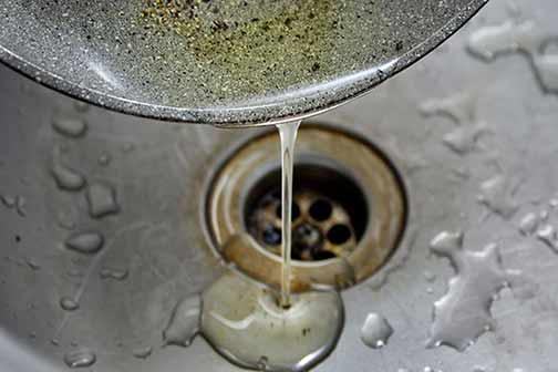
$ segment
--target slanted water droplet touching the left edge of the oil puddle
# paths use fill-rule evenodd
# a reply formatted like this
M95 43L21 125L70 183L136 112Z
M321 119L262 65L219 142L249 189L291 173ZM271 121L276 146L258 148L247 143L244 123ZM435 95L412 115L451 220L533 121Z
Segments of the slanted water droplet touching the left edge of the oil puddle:
M200 317L202 299L198 296L188 297L178 302L163 332L165 345L189 347L199 332Z

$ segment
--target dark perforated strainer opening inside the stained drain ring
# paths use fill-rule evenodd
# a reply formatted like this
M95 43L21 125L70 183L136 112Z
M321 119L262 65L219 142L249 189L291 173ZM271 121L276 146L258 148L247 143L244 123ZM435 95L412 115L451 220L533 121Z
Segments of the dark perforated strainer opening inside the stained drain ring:
M268 251L281 254L280 169L248 192L245 224ZM364 194L340 169L297 164L293 178L292 259L319 261L348 257L368 225Z

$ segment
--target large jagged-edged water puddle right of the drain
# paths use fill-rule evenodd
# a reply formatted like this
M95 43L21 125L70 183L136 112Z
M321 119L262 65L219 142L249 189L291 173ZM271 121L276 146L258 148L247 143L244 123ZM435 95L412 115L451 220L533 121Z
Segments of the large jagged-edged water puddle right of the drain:
M480 251L463 248L464 234L443 231L431 242L431 250L450 259L456 276L448 291L434 303L434 322L428 348L442 344L464 351L494 326L490 314L494 296L515 280L517 271L505 270L496 245Z

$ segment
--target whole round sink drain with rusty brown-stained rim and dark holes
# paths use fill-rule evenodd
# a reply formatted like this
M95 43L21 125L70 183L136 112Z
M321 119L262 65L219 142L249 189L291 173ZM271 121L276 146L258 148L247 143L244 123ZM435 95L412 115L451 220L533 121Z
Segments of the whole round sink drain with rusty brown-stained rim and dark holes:
M281 252L278 154L275 132L239 146L213 175L204 214L216 252L276 287ZM302 126L293 188L293 290L362 281L396 248L405 225L405 194L388 158L364 140Z

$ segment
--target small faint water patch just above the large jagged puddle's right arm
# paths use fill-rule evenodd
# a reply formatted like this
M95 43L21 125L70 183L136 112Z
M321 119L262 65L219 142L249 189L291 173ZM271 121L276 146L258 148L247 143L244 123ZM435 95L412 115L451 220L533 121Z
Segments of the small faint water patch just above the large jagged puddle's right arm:
M492 211L510 219L519 207L515 200L517 186L508 177L496 175L480 185L479 200Z

